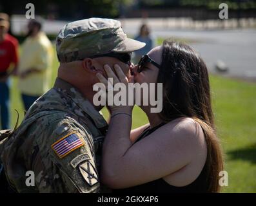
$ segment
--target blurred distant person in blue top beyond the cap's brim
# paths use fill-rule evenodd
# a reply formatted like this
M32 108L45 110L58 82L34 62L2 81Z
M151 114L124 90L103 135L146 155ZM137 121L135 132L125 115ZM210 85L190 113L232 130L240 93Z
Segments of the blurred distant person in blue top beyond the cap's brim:
M150 52L150 50L152 50L152 48L154 47L154 41L150 35L150 29L148 28L148 25L146 24L141 25L141 28L139 30L139 35L135 37L135 40L146 43L146 46L141 48L141 50L137 50L134 52L135 53L134 63L137 64L141 59L141 57L143 57L143 55L145 55L146 53Z

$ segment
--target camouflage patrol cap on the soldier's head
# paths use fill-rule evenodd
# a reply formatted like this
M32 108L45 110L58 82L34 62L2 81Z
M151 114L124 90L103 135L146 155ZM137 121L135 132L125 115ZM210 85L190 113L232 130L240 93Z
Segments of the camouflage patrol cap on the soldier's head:
M144 42L128 38L120 21L101 18L68 23L56 39L59 62L77 61L109 52L133 52L145 45Z

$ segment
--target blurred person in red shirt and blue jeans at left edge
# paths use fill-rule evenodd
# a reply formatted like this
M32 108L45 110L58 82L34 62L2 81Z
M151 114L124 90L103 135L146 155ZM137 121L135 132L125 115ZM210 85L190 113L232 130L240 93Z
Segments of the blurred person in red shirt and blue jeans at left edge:
M16 73L19 43L17 39L8 34L10 28L9 17L5 13L0 13L0 108L1 108L1 128L10 128L10 75ZM10 71L11 64L14 64Z

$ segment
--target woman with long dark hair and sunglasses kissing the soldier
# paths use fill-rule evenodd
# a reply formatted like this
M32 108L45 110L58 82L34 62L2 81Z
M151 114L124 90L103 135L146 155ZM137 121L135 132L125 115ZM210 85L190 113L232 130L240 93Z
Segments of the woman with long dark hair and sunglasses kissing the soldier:
M104 69L113 82L121 68ZM97 74L101 82L106 79ZM117 78L118 77L118 78ZM162 83L162 111L141 106L149 124L131 129L133 106L109 106L101 181L117 192L219 192L222 153L215 134L208 71L190 46L164 41L134 68L134 82Z

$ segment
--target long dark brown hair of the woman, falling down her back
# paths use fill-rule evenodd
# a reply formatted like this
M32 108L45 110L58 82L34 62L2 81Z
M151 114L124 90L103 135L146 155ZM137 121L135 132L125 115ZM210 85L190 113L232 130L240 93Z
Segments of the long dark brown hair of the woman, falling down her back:
M162 120L193 118L204 131L207 144L208 191L219 192L219 172L223 170L222 150L215 133L208 70L190 46L164 41L157 82L163 86Z

